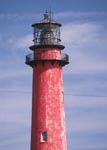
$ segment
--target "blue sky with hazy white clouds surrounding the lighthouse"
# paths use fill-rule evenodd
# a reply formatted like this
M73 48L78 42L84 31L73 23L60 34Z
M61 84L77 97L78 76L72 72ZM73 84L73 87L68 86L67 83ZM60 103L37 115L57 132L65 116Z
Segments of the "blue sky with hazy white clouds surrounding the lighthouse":
M0 149L29 150L31 25L46 10L62 24L68 150L107 150L107 0L0 0Z

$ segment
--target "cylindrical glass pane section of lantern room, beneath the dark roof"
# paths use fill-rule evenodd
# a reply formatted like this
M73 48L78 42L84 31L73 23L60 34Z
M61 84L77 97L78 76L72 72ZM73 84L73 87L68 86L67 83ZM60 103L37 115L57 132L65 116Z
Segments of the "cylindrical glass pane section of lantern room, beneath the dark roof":
M60 27L53 24L42 24L34 27L34 45L60 44Z

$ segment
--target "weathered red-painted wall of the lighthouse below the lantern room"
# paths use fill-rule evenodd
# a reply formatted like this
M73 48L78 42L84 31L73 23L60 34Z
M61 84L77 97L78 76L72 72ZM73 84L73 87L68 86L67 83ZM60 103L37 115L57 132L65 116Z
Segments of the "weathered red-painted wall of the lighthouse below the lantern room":
M61 50L38 48L34 56L31 150L67 150ZM42 131L47 142L41 142Z

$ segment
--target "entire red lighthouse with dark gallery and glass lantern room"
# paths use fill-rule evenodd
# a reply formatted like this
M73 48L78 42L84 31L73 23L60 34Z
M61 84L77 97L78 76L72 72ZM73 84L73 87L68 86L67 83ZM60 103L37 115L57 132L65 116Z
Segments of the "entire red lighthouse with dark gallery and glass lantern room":
M32 27L33 53L26 56L33 67L31 150L67 150L62 67L69 61L61 53L61 24L46 12Z

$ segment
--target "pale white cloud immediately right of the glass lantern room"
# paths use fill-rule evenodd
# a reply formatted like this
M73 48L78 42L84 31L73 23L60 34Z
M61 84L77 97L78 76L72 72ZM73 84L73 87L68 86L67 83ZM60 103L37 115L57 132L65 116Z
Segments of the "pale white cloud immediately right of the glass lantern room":
M86 45L97 41L99 26L88 23L67 23L62 30L62 41L71 46Z

